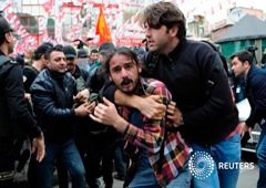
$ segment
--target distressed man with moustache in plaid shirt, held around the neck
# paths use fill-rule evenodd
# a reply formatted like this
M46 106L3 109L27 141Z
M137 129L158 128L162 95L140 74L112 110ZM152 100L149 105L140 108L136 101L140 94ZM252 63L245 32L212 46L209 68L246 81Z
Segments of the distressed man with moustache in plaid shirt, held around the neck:
M164 105L170 103L171 93L162 82L139 75L141 63L130 49L121 48L110 54L105 67L122 92L142 97L158 95ZM113 103L106 98L103 102L90 116L99 123L113 126L126 138L125 152L135 158L136 165L130 187L191 187L192 176L187 166L191 146L178 132L167 133L164 139L165 127L175 126L173 121L166 121L165 114L161 119L149 119L137 109L125 106L119 106L117 113Z

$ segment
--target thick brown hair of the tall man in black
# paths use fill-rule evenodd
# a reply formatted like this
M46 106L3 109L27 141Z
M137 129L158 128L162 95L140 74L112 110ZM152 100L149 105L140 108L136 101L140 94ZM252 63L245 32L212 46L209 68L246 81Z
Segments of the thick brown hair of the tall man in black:
M160 29L165 25L172 29L178 27L177 38L182 39L186 35L185 17L183 12L172 2L160 1L146 7L142 18L142 24L147 24L151 28Z

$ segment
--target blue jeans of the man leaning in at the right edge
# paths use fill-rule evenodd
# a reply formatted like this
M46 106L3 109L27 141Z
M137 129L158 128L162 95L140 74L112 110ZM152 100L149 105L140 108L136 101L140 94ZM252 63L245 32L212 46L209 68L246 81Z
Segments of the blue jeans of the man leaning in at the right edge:
M260 137L257 145L257 158L259 167L259 178L257 188L266 187L266 124L263 125Z

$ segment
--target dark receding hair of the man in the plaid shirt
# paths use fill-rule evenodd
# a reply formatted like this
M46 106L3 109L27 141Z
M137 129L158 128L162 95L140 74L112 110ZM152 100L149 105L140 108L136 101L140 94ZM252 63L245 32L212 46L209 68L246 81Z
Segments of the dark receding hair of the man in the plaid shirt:
M115 54L130 56L133 62L135 62L136 64L139 63L139 59L134 51L125 46L117 48L114 51L110 52L110 54L106 56L104 69L108 74L110 73L110 61Z

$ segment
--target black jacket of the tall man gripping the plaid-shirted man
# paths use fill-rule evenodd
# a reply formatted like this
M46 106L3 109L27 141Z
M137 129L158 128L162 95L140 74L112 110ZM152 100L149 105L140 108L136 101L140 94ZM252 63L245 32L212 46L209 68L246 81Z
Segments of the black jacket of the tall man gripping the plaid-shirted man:
M217 52L208 44L185 38L168 55L147 52L143 56L147 70L143 75L157 79L166 85L183 113L183 136L202 146L222 142L238 125L238 112L224 70L221 70L211 94L206 95L209 70L214 62L223 69ZM105 87L103 95L113 100L111 94L114 92L110 87Z

